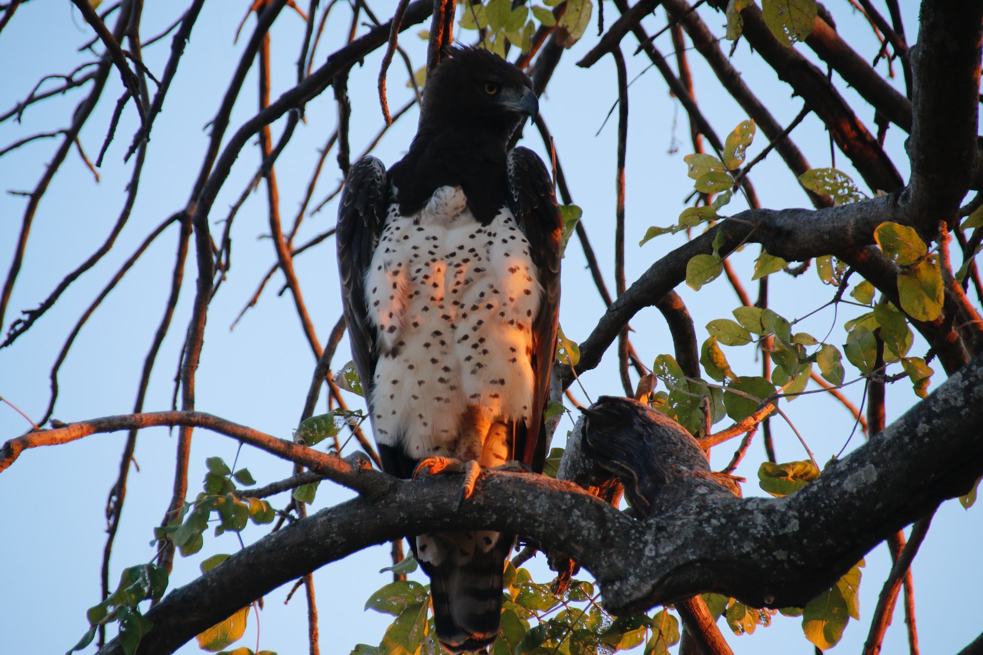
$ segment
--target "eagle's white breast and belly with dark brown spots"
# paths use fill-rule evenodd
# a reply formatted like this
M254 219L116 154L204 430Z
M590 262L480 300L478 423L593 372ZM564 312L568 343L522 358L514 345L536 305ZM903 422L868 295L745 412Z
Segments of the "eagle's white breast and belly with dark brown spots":
M441 187L410 216L393 204L366 274L379 443L422 459L446 454L469 405L530 417L542 287L529 249L507 207L483 227L459 188Z

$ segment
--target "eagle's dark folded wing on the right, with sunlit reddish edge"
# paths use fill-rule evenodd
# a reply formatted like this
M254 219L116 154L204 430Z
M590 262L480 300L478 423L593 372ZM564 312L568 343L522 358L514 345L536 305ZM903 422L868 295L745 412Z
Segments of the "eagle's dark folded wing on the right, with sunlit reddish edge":
M509 208L519 223L530 255L539 269L543 298L533 321L532 421L525 430L516 430L515 457L532 465L537 472L546 461L547 435L543 415L549 403L549 371L556 348L556 321L559 311L559 259L563 219L553 192L549 170L529 148L517 147L508 153Z

